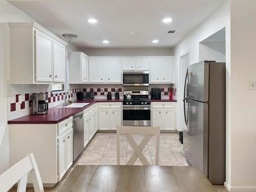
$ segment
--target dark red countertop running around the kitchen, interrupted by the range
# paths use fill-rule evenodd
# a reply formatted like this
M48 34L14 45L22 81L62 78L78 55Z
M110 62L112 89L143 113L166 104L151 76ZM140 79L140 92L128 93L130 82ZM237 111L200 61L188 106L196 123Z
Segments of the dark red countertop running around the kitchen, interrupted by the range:
M8 124L57 124L74 114L85 110L97 102L122 102L123 99L94 99L94 100L76 100L74 103L90 103L82 108L50 108L48 114L44 115L27 115L17 119L9 120ZM151 100L151 102L176 102L176 100L161 99Z

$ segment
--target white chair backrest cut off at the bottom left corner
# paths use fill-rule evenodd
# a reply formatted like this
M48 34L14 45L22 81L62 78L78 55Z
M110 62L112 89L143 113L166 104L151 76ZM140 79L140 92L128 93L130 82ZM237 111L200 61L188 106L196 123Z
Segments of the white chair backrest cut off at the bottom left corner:
M18 182L17 192L26 192L28 173L32 175L35 192L44 192L34 154L28 154L0 175L0 191L7 192Z

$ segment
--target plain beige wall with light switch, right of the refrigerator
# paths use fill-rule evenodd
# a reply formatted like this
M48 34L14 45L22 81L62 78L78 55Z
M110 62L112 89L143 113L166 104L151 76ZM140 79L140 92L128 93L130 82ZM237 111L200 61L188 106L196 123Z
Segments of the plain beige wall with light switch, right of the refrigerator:
M231 0L231 188L256 191L256 1Z

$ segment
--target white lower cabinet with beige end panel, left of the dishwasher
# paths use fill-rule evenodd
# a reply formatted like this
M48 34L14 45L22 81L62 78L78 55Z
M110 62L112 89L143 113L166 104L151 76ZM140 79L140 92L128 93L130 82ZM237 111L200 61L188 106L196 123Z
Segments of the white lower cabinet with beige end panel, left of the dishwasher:
M44 187L53 187L73 163L72 126L72 116L58 124L9 124L10 166L33 153Z

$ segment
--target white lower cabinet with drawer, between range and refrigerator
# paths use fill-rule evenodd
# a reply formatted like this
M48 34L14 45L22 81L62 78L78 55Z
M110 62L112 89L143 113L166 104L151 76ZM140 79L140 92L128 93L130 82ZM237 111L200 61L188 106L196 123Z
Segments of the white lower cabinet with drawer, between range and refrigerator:
M160 126L161 130L176 130L174 102L152 102L152 126Z

